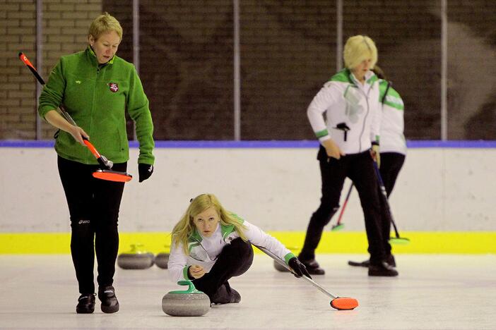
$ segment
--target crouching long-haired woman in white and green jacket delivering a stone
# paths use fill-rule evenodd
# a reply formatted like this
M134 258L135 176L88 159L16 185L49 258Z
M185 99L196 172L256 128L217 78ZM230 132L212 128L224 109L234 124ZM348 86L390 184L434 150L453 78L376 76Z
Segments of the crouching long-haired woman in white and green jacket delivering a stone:
M191 200L172 229L170 279L192 280L213 304L240 302L240 293L228 280L240 276L253 262L252 244L265 247L283 259L295 276L309 276L305 266L284 245L254 224L228 212L212 194Z

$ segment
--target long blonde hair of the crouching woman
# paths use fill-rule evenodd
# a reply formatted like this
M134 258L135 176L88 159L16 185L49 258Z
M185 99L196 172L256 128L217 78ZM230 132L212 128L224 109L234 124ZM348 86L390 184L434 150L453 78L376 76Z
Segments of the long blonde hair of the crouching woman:
M224 226L235 226L235 231L240 235L240 238L244 241L248 240L244 234L244 230L247 227L242 224L242 220L232 212L224 209L215 195L202 194L191 200L188 209L172 229L172 245L177 247L179 243L182 243L186 255L189 255L188 238L195 229L193 219L209 207L213 207L217 211L220 216L220 224Z

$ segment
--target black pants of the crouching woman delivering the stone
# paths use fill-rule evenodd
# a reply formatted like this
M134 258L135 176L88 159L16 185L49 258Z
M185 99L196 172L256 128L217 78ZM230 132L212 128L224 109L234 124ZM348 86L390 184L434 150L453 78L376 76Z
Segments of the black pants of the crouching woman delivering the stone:
M252 244L236 238L229 245L225 245L208 273L193 280L194 286L212 300L220 286L228 282L231 277L244 274L252 266L252 262Z

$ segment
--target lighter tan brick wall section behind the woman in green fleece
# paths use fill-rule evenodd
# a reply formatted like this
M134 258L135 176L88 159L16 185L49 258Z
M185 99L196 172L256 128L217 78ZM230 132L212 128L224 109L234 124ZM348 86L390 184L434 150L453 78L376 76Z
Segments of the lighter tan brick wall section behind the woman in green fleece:
M1 1L0 139L34 139L36 84L19 61L23 51L36 65L36 1ZM101 0L43 0L43 66L48 74L61 55L85 49L88 27L102 12ZM51 139L54 128L42 121L42 138Z

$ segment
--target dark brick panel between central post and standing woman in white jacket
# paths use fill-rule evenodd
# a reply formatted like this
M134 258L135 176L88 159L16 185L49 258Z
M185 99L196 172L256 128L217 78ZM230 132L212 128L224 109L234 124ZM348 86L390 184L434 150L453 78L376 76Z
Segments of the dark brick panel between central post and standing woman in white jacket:
M240 1L243 139L314 139L306 110L336 71L334 2Z

